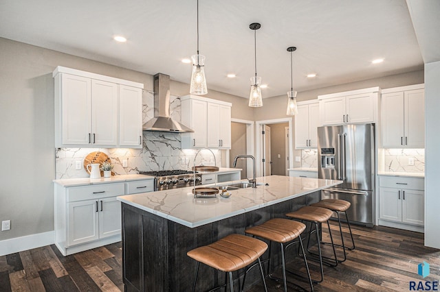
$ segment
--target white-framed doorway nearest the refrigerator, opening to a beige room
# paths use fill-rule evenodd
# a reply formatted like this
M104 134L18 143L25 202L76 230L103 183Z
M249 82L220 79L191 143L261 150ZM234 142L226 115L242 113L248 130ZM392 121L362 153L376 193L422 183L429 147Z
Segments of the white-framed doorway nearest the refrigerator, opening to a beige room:
M270 142L266 141L267 127L270 128ZM286 137L286 127L287 136ZM264 175L287 175L287 169L292 168L292 118L256 121L256 173ZM266 141L266 142L265 142ZM266 146L265 146L266 144ZM270 154L267 153L270 149ZM287 153L287 155L286 155ZM267 162L269 160L269 162ZM272 162L272 163L270 163ZM270 165L270 167L268 166ZM268 169L270 168L270 172Z

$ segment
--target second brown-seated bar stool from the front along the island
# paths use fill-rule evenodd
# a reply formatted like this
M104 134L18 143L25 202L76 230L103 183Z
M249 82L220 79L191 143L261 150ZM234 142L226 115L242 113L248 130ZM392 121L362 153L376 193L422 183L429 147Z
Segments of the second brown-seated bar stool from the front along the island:
M287 279L286 279L286 267L285 267L285 250L287 247L300 243L301 250L303 252L303 258L305 267L307 269L307 276L309 277L309 284L311 291L314 291L314 285L311 282L311 276L309 271L309 265L307 265L307 259L305 257L305 251L303 247L303 241L301 240L301 233L305 230L306 226L298 221L292 221L289 219L275 218L266 221L265 223L248 228L245 230L247 234L253 236L259 236L263 239L270 240L271 242L281 243L281 264L283 266L283 282L284 291L287 291ZM294 241L298 238L298 241ZM287 245L284 245L287 243ZM270 259L269 259L270 260ZM270 273L269 273L270 276ZM272 276L270 276L272 278ZM244 280L243 280L244 285ZM302 287L301 287L302 288Z

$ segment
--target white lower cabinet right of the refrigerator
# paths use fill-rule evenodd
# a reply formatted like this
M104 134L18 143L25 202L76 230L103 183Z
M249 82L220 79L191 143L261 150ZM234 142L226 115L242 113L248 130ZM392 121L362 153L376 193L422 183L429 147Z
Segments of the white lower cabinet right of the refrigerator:
M424 225L424 180L423 178L383 177L379 178L379 219L399 224L397 228ZM389 226L388 224L380 224Z

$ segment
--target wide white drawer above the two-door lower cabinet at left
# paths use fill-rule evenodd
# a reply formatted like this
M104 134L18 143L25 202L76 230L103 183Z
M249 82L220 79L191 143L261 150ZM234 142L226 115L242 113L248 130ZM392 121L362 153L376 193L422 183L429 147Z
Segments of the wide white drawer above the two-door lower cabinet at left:
M124 183L72 186L67 188L67 202L124 195Z

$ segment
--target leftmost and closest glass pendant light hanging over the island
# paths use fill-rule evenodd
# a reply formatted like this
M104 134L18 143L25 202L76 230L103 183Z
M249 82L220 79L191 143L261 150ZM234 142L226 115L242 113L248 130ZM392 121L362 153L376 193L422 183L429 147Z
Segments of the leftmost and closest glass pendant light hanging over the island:
M197 0L197 55L192 55L191 60L190 94L206 95L208 88L206 88L205 56L199 54L199 0Z

